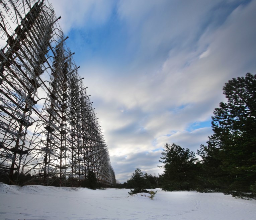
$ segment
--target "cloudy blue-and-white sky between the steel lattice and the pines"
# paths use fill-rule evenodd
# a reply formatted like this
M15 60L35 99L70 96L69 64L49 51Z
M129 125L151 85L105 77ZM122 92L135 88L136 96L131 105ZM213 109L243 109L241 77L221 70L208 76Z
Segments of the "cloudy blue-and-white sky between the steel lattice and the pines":
M120 183L165 143L212 134L228 80L256 74L256 0L51 0Z

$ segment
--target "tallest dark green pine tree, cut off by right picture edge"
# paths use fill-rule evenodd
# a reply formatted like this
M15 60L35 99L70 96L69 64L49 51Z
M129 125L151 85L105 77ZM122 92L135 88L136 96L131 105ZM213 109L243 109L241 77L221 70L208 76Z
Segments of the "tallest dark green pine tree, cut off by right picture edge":
M233 196L253 196L256 183L256 75L233 78L223 87L221 102L212 117L214 134L201 145L209 182ZM212 172L213 171L213 172ZM256 196L254 194L254 196Z

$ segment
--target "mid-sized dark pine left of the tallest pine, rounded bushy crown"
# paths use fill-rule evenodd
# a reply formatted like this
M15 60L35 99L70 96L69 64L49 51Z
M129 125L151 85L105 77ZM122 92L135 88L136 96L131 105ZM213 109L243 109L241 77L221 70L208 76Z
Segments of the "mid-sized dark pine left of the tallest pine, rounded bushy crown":
M189 149L184 149L176 144L164 145L162 152L164 174L162 184L164 190L193 190L197 186L195 153Z

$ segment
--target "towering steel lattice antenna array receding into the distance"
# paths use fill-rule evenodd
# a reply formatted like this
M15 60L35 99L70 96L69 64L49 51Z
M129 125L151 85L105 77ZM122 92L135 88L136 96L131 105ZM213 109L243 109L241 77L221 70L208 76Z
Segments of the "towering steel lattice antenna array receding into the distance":
M115 183L108 149L49 2L0 0L0 171L72 186Z

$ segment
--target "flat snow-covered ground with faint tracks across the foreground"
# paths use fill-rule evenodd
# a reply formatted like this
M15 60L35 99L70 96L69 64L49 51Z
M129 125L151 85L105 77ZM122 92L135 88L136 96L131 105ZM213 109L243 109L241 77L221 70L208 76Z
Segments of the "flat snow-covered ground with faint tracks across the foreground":
M256 200L222 193L8 186L0 183L0 219L256 219Z

